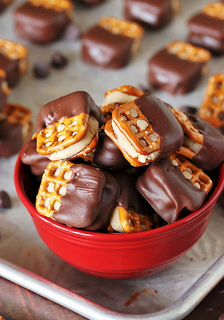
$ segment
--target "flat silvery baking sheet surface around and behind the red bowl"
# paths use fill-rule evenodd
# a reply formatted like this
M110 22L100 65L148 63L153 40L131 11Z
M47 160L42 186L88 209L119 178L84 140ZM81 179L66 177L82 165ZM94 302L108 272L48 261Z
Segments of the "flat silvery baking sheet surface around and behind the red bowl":
M21 2L23 1L15 1L0 15L0 37L20 41L29 48L30 67L13 89L9 101L31 108L35 121L42 104L74 90L86 90L100 105L104 91L109 88L145 83L148 57L168 41L183 40L187 17L210 1L183 0L181 13L164 29L147 31L139 53L128 66L119 70L101 70L84 64L80 60L78 40L59 40L50 45L39 46L17 38L13 32L12 11ZM121 17L121 6L121 0L107 0L93 8L76 5L74 20L85 30L103 15ZM47 79L35 79L31 72L32 64L39 59L49 60L56 49L69 58L67 67L62 70L51 69ZM213 58L208 75L194 91L183 96L171 96L162 91L155 93L176 108L183 104L198 106L208 76L221 69L223 58ZM16 155L7 159L0 158L0 189L8 191L13 202L11 209L0 209L0 256L108 308L130 314L162 309L174 302L224 251L224 214L221 207L216 205L203 236L166 270L151 276L125 280L102 279L78 271L51 252L39 238L13 186L15 159ZM139 294L135 294L136 292Z

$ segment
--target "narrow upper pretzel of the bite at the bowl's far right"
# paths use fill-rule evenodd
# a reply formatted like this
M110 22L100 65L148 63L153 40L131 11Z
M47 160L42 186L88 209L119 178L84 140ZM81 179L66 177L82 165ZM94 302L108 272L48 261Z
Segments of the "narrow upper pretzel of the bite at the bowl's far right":
M201 134L192 124L188 116L180 110L169 107L169 110L175 116L183 129L184 136L197 143L203 144L203 134Z

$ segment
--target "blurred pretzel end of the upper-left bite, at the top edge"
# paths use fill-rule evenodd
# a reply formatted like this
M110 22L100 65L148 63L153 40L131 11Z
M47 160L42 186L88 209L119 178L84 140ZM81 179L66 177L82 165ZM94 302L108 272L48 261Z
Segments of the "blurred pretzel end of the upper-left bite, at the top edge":
M68 11L73 9L73 4L70 0L29 0L32 5L43 6L46 9L55 11Z

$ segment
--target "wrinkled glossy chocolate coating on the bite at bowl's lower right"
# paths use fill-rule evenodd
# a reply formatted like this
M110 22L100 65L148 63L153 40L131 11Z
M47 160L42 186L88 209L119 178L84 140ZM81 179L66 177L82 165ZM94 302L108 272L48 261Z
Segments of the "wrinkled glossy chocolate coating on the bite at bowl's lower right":
M169 156L148 166L136 182L138 191L168 223L183 209L194 211L202 205L206 192L193 186Z

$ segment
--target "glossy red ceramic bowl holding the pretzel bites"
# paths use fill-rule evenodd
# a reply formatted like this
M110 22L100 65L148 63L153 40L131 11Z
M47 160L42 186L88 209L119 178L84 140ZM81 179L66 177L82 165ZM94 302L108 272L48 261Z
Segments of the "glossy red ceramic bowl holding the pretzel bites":
M21 151L22 152L22 151ZM34 203L35 187L29 167L18 155L14 183L46 245L75 268L108 278L129 278L160 271L180 258L200 238L224 187L224 163L212 175L214 187L197 211L149 231L100 233L71 228L40 215Z

